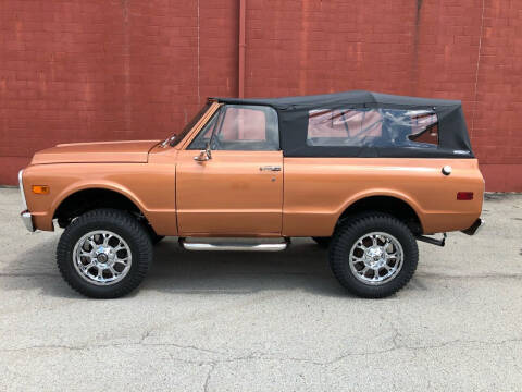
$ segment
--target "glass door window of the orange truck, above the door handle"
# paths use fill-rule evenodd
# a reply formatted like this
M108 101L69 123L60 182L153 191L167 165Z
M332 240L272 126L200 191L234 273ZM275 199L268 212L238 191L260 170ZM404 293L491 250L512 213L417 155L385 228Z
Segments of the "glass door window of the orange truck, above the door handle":
M276 151L277 112L266 106L226 105L200 131L188 149Z

